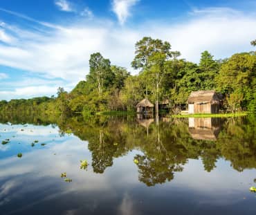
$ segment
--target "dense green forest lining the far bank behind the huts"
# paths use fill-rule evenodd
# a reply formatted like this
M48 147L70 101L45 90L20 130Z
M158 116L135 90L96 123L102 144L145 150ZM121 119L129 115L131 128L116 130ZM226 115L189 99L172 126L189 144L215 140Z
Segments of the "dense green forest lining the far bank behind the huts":
M256 46L256 40L251 41ZM226 111L256 112L256 52L236 53L227 59L214 59L207 50L199 64L181 59L167 41L144 37L136 43L131 66L112 65L100 53L89 59L90 71L71 92L57 89L57 97L35 97L29 100L0 101L1 112L62 112L91 115L98 111L134 111L147 97L158 104L170 101L170 110L186 106L191 91L216 90L225 95ZM158 106L158 105L156 105Z

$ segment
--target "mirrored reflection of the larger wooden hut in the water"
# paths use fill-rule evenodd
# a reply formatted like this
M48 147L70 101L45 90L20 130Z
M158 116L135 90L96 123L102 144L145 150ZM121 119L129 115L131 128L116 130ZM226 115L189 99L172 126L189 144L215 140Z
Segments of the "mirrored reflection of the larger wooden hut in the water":
M220 118L188 118L188 131L195 140L217 140Z

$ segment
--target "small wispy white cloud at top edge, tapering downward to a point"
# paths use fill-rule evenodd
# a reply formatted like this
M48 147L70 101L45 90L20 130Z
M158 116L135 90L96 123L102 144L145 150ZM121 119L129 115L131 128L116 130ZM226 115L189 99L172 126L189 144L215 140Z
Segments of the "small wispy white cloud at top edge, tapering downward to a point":
M140 0L113 0L112 10L116 13L120 24L125 24L127 18L131 15L131 7L136 5Z

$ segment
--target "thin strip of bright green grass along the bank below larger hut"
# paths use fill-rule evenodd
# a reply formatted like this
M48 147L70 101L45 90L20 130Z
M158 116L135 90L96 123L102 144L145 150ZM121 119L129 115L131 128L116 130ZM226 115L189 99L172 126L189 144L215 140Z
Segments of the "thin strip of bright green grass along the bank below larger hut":
M237 113L196 113L188 115L170 115L171 118L234 118L248 115L246 112Z

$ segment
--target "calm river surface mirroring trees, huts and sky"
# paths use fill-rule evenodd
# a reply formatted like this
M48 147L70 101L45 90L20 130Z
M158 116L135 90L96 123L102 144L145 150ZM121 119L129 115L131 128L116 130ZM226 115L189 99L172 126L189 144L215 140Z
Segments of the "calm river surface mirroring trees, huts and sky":
M255 119L3 118L0 214L256 214Z

